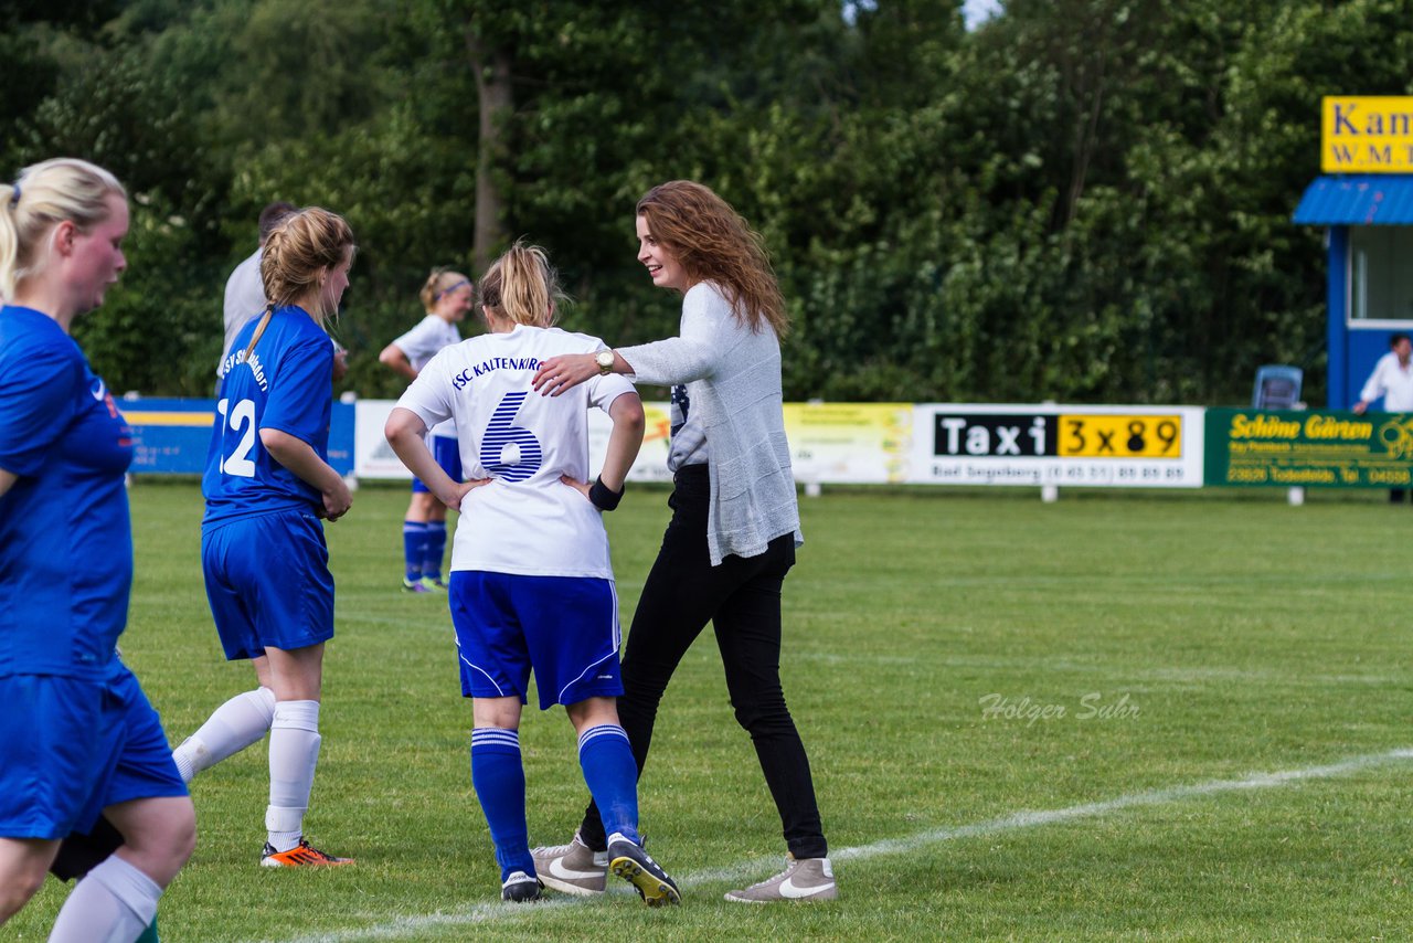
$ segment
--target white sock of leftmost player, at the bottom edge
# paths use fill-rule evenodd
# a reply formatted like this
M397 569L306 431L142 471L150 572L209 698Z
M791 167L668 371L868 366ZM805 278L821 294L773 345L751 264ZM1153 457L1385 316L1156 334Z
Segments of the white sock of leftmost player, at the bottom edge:
M155 881L112 854L64 902L49 943L133 943L157 916L160 896Z

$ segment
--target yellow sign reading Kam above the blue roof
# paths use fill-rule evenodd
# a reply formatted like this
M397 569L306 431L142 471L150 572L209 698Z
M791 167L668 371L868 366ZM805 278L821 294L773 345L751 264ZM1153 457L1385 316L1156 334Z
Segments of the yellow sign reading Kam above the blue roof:
M1413 174L1413 96L1325 96L1320 170Z

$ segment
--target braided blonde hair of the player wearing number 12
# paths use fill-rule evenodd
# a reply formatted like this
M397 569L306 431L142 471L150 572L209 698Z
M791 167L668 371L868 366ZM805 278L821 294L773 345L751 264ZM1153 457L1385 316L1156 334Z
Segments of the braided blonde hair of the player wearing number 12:
M307 206L285 216L266 239L260 254L260 281L264 283L264 317L246 348L247 356L256 349L260 335L270 325L276 308L294 304L311 288L322 284L325 273L345 262L353 260L357 246L353 245L353 230L343 216L319 206ZM309 315L325 327L336 311L325 311L318 305Z

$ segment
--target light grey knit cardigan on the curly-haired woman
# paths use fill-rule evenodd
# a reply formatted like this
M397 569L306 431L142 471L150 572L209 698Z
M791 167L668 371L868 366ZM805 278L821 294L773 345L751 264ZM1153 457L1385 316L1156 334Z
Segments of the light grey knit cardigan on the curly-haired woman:
M780 389L780 341L769 325L743 325L711 281L682 298L681 335L619 348L634 383L687 385L702 423L711 472L706 547L714 567L728 554L755 557L781 534L800 533Z

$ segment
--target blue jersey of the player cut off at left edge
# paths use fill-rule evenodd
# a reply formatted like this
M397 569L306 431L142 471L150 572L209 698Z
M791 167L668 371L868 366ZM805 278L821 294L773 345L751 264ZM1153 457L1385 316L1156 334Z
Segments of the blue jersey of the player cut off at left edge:
M79 346L0 308L0 676L103 677L133 585L131 430Z

